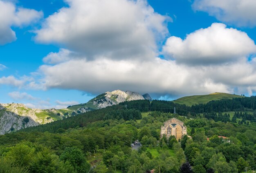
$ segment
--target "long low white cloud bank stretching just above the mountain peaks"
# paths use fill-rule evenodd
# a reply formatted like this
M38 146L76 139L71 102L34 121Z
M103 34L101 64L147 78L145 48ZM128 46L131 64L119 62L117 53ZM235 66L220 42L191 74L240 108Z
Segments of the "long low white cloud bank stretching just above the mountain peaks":
M139 93L193 93L230 92L231 89L213 80L209 75L215 69L177 65L175 61L155 58L152 61L70 60L54 66L43 65L46 88L78 89L103 93L115 89ZM208 74L208 75L207 75Z

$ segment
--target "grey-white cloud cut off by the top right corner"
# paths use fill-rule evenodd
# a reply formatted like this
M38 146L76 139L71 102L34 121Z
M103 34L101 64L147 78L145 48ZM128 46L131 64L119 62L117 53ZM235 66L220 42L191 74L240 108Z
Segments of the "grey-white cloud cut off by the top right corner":
M205 11L222 22L239 27L256 26L255 0L195 0L192 7Z

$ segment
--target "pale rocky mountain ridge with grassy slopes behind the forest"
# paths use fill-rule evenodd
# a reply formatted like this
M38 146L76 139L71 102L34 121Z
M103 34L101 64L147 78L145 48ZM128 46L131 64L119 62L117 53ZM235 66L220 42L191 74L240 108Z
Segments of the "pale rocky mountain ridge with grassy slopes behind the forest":
M147 95L147 98L150 96ZM0 135L132 100L144 100L144 97L132 91L115 90L66 109L30 109L20 103L0 104Z

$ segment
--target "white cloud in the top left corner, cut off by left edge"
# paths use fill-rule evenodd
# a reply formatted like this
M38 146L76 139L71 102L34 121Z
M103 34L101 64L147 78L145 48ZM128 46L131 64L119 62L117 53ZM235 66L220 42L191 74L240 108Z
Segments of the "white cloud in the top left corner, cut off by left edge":
M43 16L43 12L16 7L12 2L0 0L0 16L0 45L4 45L16 40L12 26L22 27L35 22Z

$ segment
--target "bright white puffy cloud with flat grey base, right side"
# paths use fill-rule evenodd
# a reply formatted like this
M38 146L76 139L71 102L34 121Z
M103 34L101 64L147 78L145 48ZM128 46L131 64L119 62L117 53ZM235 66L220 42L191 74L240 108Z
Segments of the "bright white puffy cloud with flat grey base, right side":
M213 23L190 33L184 40L175 36L168 38L163 50L179 63L220 64L255 53L256 45L245 32Z

